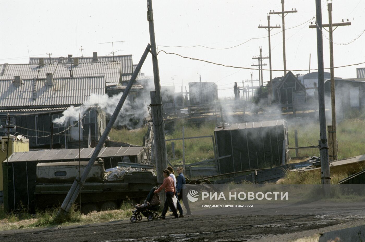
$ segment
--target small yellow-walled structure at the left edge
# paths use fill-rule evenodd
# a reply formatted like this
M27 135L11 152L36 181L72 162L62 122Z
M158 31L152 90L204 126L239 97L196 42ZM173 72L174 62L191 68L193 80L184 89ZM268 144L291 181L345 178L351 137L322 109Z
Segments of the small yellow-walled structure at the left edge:
M11 136L10 136L11 137ZM6 148L7 144L5 143L7 136L2 137L0 140L0 163L2 163L4 160L6 160ZM4 145L2 144L4 142ZM18 140L15 137L15 141L10 140L9 141L9 156L14 152L25 152L29 151L29 140L27 139L27 142L24 143L21 140ZM0 167L0 191L3 191L3 166L1 164Z

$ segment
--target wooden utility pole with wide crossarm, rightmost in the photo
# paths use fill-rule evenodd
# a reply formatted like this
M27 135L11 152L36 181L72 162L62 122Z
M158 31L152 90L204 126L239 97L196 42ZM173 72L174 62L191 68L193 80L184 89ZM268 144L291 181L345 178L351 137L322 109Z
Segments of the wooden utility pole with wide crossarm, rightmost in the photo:
M332 114L332 153L330 154L330 160L337 160L337 135L336 135L336 101L335 101L335 76L334 76L334 63L333 63L333 31L338 26L349 26L351 22L332 23L332 3L327 3L328 7L328 24L323 24L322 27L328 27L330 35L330 72L331 72L331 114ZM335 29L333 29L335 27ZM316 28L316 24L310 25L309 28Z

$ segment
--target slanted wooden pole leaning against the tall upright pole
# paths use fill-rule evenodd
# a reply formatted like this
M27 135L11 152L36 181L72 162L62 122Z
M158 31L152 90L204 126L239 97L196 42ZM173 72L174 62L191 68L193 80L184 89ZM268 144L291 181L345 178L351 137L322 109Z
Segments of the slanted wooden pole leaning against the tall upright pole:
M123 92L123 95L120 98L118 105L116 106L114 113L113 113L112 117L110 118L110 121L108 122L108 125L106 126L106 128L104 130L103 135L101 136L99 142L97 143L94 153L92 154L88 165L86 166L84 172L82 173L81 179L80 179L80 176L76 177L76 179L74 180L74 182L70 188L70 191L68 192L64 202L61 205L61 208L59 208L59 210L57 212L58 218L62 215L68 214L71 210L72 205L76 201L77 196L80 193L80 189L84 185L85 180L88 177L89 172L91 171L91 168L92 168L95 160L97 159L97 156L99 155L101 148L103 148L104 142L107 139L108 134L109 134L112 126L114 125L114 122L115 122L116 118L118 117L120 110L123 107L124 101L126 101L127 95L129 93L135 79L137 78L139 70L141 70L143 62L145 62L145 59L146 59L147 54L150 51L150 49L151 49L151 45L147 44L146 50L145 50L145 52L143 52L141 60L139 60L139 63L137 65L136 69L134 70L130 81L128 82L126 90Z

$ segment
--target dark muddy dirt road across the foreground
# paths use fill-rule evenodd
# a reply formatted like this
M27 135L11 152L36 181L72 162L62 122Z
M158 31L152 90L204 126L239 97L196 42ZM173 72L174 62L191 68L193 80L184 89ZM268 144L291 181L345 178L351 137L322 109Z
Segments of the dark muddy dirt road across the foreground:
M0 232L2 242L123 242L123 241L290 241L363 223L364 216L335 215L199 215L131 224L128 220L84 226Z

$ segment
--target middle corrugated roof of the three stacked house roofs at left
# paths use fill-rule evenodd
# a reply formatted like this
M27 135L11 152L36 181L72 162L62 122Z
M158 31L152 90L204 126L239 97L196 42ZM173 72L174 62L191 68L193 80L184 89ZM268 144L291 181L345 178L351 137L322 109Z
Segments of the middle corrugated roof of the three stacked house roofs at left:
M54 78L105 76L105 82L118 83L120 78L120 61L88 62L74 66L70 63L46 64L41 68L37 64L1 64L0 79L14 80L14 76L22 79L43 79L47 73L54 73ZM39 70L39 72L38 72Z

